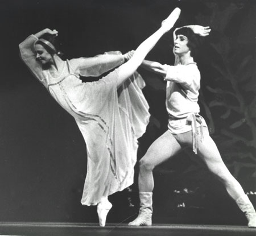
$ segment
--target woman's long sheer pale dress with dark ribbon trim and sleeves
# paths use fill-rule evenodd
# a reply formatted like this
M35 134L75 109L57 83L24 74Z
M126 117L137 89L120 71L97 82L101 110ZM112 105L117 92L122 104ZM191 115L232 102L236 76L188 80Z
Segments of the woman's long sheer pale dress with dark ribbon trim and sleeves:
M102 197L133 184L137 139L146 130L150 117L142 93L144 81L135 72L117 89L118 69L96 82L80 80L80 75L98 76L122 64L120 52L115 52L120 55L115 56L116 61L111 53L91 60L67 60L59 76L52 77L35 60L36 40L31 35L20 43L20 56L51 96L75 118L88 158L81 203L96 205ZM105 63L97 62L97 58L103 58ZM77 67L83 60L83 67Z

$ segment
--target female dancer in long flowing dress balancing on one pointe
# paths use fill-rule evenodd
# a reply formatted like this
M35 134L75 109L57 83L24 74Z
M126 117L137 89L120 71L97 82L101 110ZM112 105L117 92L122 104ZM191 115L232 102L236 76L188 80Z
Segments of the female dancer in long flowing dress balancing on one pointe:
M144 81L135 73L147 53L169 31L180 9L134 53L62 60L54 44L56 30L43 30L19 44L24 63L51 96L75 118L84 137L88 166L83 205L97 205L100 226L112 208L108 196L133 183L137 139L148 123L148 105L141 89ZM46 35L46 33L48 35ZM131 58L130 58L131 57ZM122 64L123 61L128 60ZM120 67L96 82L79 76L98 76Z

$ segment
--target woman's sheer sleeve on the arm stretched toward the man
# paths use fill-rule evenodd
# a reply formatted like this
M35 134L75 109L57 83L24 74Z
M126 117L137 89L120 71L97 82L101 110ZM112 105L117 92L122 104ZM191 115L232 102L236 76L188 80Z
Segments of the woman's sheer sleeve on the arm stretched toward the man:
M100 76L123 64L125 59L121 52L105 52L94 57L80 57L70 61L71 67L81 76Z

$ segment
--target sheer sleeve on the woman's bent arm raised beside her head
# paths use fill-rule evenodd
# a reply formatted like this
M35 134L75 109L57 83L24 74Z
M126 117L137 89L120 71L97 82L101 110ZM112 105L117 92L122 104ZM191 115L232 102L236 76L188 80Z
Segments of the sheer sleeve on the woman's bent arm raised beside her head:
M35 60L34 44L38 40L35 35L28 36L19 44L20 57L30 69L31 73L46 86L46 79L42 73L42 65Z

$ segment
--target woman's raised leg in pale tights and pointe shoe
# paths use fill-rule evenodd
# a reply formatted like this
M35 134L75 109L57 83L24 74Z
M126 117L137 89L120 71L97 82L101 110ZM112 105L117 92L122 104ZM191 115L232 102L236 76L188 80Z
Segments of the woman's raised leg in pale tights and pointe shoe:
M133 74L142 61L146 57L147 53L155 46L158 40L169 31L175 24L176 20L179 18L180 9L176 8L170 16L162 23L162 26L149 38L147 38L134 52L133 57L127 63L121 65L118 68L118 86L121 85L128 77Z

